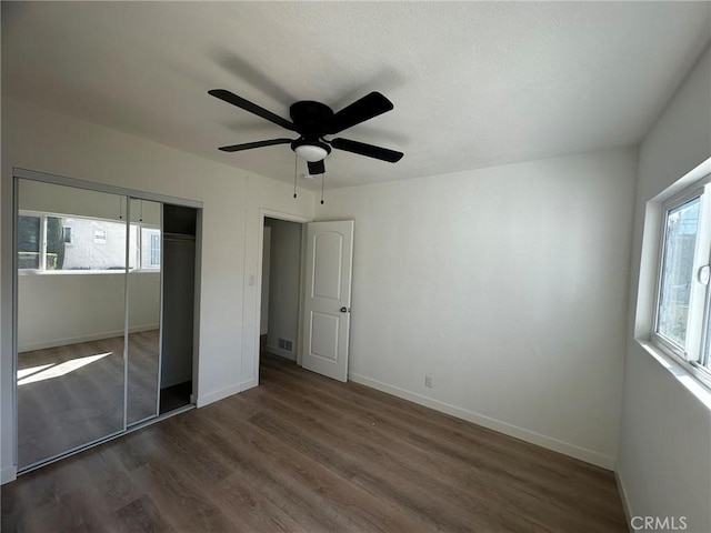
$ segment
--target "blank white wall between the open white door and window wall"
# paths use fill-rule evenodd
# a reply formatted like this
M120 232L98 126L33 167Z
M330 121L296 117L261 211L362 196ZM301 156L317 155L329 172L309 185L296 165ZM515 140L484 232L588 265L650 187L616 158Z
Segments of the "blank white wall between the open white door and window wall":
M329 191L350 379L611 469L634 172L630 149Z

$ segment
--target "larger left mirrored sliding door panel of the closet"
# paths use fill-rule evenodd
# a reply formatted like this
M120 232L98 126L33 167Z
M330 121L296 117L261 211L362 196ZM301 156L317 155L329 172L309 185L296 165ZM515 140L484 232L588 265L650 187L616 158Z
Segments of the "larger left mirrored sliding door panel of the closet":
M126 428L127 199L17 180L18 466Z

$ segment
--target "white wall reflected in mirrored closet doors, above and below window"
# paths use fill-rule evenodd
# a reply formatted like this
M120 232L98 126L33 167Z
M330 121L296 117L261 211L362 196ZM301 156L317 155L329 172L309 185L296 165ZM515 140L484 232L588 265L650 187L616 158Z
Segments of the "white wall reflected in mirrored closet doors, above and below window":
M126 223L126 199L81 189L22 180L20 209L59 215L81 215ZM132 208L138 210L139 202ZM131 213L139 221L139 213ZM160 225L160 204L143 202L143 222ZM81 220L81 219L80 219ZM118 253L126 259L126 229ZM109 242L110 244L110 242ZM77 245L69 245L67 255ZM67 265L67 261L64 262ZM70 272L18 276L18 351L72 344L122 335L126 320L124 274L121 272ZM160 319L160 275L129 275L131 331L156 329Z

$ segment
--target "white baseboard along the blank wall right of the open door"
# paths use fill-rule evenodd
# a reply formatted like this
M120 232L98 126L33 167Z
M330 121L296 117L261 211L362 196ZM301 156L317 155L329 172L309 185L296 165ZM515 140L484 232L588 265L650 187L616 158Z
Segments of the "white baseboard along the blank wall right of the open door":
M517 439L521 439L522 441L530 442L531 444L537 444L539 446L553 450L554 452L570 455L571 457L575 457L587 463L601 466L605 470L614 470L614 457L611 457L609 455L604 455L602 453L598 453L592 450L578 446L575 444L559 441L558 439L553 439L551 436L541 435L540 433L535 433L534 431L529 431L523 428L502 422L500 420L491 419L483 414L458 408L457 405L440 402L439 400L433 400L422 394L418 394L399 386L390 385L388 383L383 383L364 375L349 373L348 378L356 383L360 383L362 385L370 386L371 389L387 392L388 394L392 394L393 396L402 398L404 400L409 400L410 402L424 405L425 408L434 409L435 411L457 416L458 419L462 419L468 422L489 428L490 430L498 431L499 433L514 436Z

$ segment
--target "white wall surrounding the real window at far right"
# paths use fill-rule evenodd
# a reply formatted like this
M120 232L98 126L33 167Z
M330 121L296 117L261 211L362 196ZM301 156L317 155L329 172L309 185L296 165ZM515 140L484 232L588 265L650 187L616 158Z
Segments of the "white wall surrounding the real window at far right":
M685 516L711 531L711 412L632 338L649 334L652 263L640 262L648 201L711 157L711 51L707 50L639 151L618 476L631 516ZM645 260L649 258L645 258ZM640 265L642 268L640 269ZM651 266L650 266L651 264ZM637 311L637 316L635 316Z

